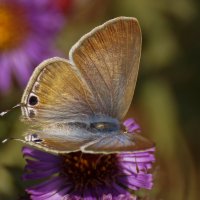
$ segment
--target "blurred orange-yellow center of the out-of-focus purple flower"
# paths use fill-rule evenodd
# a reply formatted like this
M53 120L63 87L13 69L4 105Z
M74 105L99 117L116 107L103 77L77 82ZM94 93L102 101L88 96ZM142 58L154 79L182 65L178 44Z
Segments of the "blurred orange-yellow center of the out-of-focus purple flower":
M0 4L0 51L18 46L28 33L25 10L16 4Z

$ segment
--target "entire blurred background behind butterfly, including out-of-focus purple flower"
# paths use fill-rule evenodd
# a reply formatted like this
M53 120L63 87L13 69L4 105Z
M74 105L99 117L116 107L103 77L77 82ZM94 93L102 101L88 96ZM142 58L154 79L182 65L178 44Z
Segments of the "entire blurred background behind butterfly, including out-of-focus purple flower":
M70 47L97 25L134 16L143 50L134 117L156 143L154 188L146 199L196 200L200 185L200 2L191 0L0 1L0 110L20 102L34 68ZM20 109L0 118L0 140L20 137ZM22 144L0 144L0 199L19 199Z

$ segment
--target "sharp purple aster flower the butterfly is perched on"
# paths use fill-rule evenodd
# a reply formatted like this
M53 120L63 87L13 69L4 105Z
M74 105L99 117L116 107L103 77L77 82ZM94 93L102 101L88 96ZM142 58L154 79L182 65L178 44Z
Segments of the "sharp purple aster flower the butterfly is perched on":
M127 130L139 128L133 120L126 123ZM155 148L119 154L53 155L24 147L27 164L23 179L42 180L26 192L33 200L136 200L134 191L152 188L149 170L155 160L154 151Z

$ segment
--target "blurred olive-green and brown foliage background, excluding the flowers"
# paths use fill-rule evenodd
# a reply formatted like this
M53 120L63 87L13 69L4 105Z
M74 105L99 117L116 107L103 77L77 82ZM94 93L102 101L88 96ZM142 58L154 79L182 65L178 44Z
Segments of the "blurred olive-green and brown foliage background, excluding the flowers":
M191 0L76 0L57 44L66 52L85 33L117 16L138 18L143 32L141 68L127 117L136 118L156 143L155 186L146 199L199 199L200 2ZM6 76L6 75L5 75ZM0 96L3 111L20 101L15 86ZM20 137L26 127L13 110L0 119L0 138ZM0 145L0 199L24 191L22 144Z

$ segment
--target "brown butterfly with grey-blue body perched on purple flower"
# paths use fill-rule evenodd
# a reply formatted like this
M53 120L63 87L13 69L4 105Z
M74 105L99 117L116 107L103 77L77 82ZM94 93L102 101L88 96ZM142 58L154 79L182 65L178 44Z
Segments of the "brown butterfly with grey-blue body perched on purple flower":
M94 28L33 72L21 99L25 142L53 153L142 151L153 143L122 120L132 101L141 54L137 19L118 17Z

